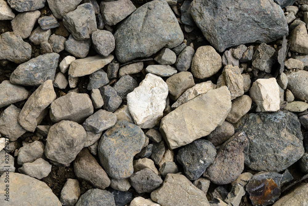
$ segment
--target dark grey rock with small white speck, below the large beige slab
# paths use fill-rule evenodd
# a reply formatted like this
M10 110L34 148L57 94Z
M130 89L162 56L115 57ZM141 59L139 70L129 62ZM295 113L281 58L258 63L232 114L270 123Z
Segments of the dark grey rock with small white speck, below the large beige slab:
M210 141L197 139L180 149L176 159L183 165L186 177L196 180L214 162L215 156L216 149Z

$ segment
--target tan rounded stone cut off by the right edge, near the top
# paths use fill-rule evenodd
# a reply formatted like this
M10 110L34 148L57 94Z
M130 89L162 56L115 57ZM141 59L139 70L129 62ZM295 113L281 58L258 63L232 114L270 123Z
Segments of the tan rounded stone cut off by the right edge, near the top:
M308 34L305 25L300 24L290 34L290 50L308 54Z

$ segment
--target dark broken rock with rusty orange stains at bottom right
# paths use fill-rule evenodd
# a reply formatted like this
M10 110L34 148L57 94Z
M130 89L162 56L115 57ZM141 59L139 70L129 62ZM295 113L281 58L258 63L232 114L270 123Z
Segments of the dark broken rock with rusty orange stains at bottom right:
M281 178L281 174L274 172L259 172L253 175L246 185L249 199L253 205L268 205L278 200Z

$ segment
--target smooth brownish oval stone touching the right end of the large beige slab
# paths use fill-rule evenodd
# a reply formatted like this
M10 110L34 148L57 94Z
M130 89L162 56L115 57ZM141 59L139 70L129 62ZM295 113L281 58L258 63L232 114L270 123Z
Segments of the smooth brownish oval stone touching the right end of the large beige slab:
M226 118L230 123L236 123L251 108L252 99L248 95L237 97L232 101L231 110Z

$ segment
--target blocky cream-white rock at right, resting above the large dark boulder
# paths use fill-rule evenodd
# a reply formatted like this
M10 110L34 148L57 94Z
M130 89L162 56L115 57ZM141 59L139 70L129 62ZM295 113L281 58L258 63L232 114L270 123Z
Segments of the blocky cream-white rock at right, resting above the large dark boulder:
M256 80L249 90L249 95L257 104L256 112L279 110L279 87L275 78Z

